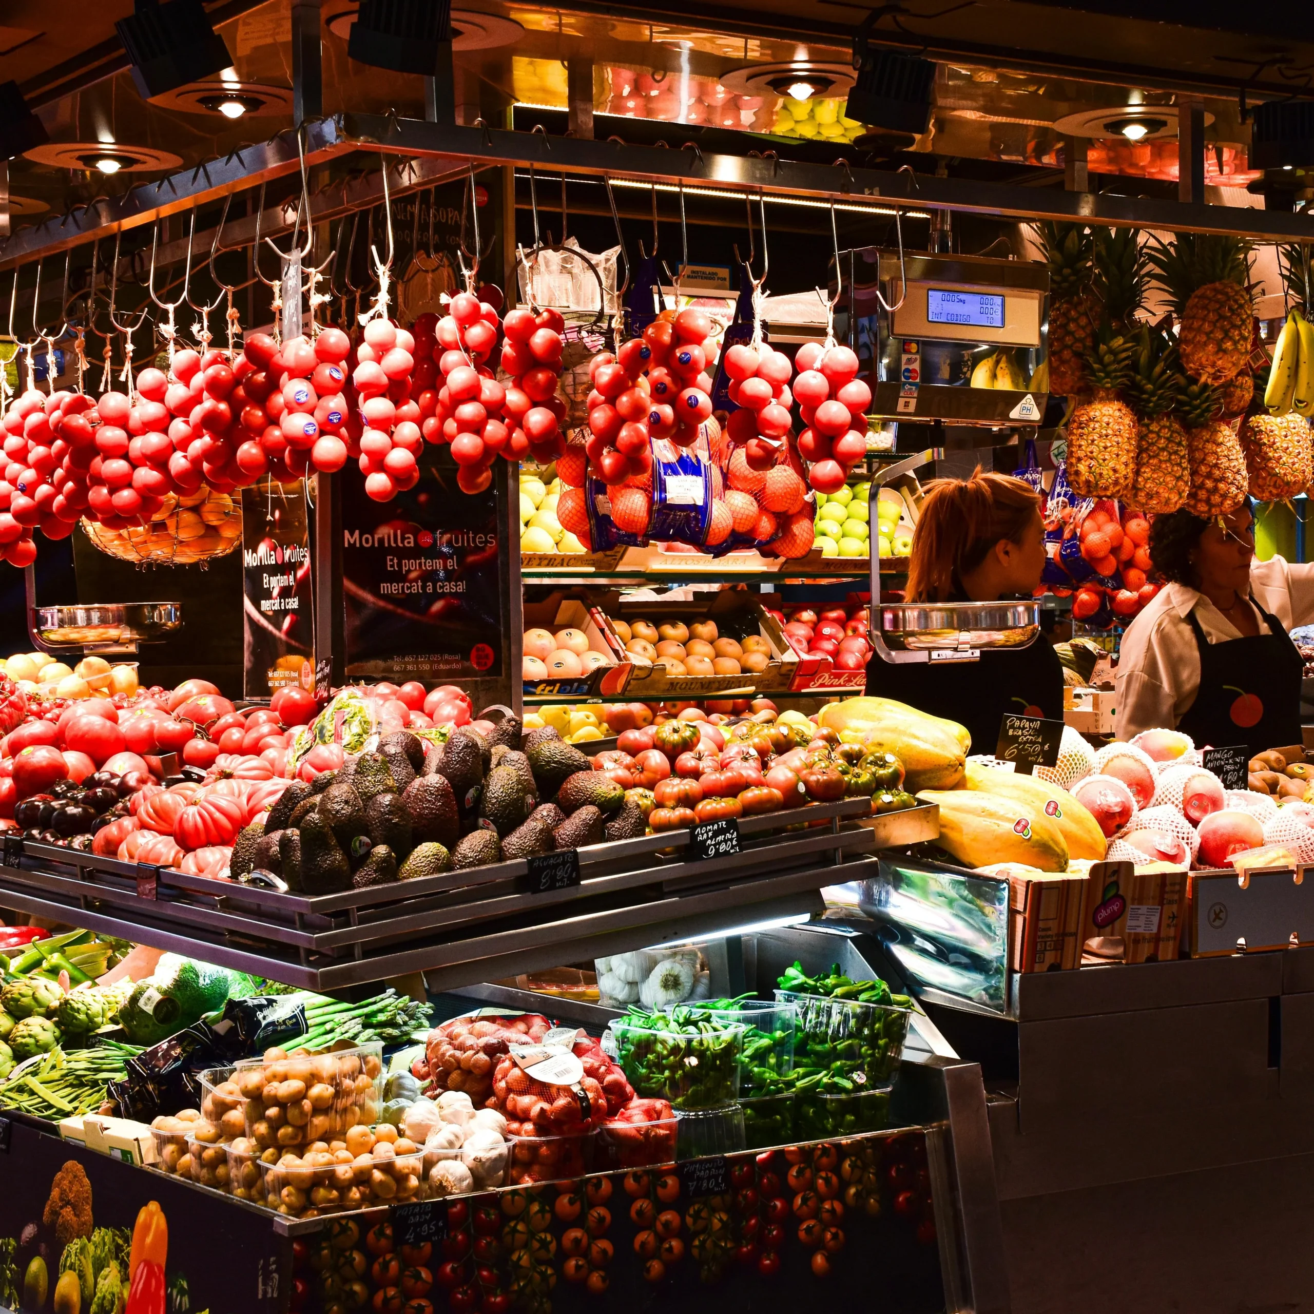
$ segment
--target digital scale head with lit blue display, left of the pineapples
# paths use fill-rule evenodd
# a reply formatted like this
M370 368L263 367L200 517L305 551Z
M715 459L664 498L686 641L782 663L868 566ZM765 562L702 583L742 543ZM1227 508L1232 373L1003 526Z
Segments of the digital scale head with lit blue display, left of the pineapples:
M863 279L863 264L875 265L874 280ZM849 268L872 414L995 428L1041 423L1045 265L869 247L851 252Z

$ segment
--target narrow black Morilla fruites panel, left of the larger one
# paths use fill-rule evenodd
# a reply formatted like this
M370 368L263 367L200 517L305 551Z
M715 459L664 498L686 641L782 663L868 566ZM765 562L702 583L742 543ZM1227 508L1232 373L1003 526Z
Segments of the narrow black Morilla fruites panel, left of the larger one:
M285 685L310 689L314 623L310 515L305 485L242 490L243 690L269 698Z

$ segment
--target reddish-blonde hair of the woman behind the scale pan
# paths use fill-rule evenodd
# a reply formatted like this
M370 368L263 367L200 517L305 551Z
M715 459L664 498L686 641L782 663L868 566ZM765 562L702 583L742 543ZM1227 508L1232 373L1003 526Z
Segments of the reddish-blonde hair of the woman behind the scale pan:
M945 602L996 543L1021 543L1039 509L1030 484L979 465L970 480L933 481L913 531L904 597Z

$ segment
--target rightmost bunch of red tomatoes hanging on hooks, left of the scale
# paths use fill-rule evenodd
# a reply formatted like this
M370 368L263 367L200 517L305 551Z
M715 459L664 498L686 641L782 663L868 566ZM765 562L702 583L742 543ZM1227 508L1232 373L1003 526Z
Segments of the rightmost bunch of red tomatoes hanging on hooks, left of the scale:
M867 453L871 389L858 378L858 357L848 347L808 342L795 360L794 396L807 426L799 434L799 455L809 463L812 487L836 493Z

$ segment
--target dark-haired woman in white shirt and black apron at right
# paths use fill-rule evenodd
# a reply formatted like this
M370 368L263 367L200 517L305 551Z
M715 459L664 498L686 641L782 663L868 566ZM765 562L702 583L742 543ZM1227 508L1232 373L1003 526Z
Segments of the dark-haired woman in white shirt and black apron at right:
M1122 636L1118 738L1163 727L1197 746L1300 744L1303 662L1286 631L1314 619L1314 565L1255 561L1248 505L1155 516L1150 557L1168 583Z

